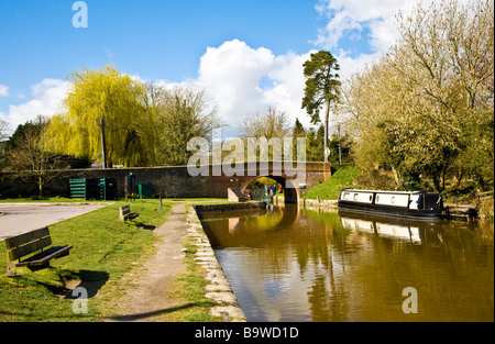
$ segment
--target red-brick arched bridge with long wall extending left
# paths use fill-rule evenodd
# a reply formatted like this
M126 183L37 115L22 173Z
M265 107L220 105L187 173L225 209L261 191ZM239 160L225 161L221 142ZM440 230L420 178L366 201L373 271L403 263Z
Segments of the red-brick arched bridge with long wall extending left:
M288 168L287 168L288 166ZM131 173L136 185L153 185L155 195L164 198L227 198L228 188L243 191L248 185L260 177L270 177L285 189L286 202L297 202L304 192L327 180L331 176L330 164L306 163L297 165L285 163L244 163L226 170L222 165L198 167L202 173L196 176L187 166L134 167L134 168L90 168L63 170L45 188L46 196L69 197L69 178L114 178L119 197L124 195L124 180ZM194 169L194 167L193 167ZM4 174L4 177L9 177ZM10 179L10 180L9 180ZM2 197L31 197L37 195L37 186L12 178L3 178Z

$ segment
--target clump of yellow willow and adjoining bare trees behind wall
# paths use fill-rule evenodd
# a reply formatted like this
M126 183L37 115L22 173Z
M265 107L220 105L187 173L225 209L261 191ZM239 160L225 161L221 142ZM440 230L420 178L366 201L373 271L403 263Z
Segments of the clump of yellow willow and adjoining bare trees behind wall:
M100 121L105 120L107 166L186 165L193 137L219 127L204 90L143 85L113 66L70 75L66 111L51 123L62 154L102 163Z

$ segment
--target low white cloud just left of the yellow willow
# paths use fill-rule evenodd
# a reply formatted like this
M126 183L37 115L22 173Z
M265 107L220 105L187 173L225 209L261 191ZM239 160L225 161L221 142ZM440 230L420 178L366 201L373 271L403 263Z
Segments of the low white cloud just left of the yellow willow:
M10 106L6 121L15 129L19 124L34 120L37 115L53 115L67 96L70 82L58 79L43 79L31 87L32 99L20 106Z

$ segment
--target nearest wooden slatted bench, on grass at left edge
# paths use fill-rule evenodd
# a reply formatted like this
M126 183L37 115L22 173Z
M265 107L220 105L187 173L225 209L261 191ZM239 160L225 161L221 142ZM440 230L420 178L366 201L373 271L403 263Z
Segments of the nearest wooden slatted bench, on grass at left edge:
M35 230L21 235L6 238L7 276L22 275L28 271L35 271L50 266L50 260L67 256L73 248L72 245L53 246L48 228ZM30 256L34 254L33 256ZM28 257L29 256L29 257Z

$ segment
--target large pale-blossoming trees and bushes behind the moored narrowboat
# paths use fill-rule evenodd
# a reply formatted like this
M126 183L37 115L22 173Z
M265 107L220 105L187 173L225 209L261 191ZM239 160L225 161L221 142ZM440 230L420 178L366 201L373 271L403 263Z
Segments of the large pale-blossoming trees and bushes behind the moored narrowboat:
M403 188L448 178L493 188L493 1L418 4L398 15L400 37L344 86L355 162L392 170Z

